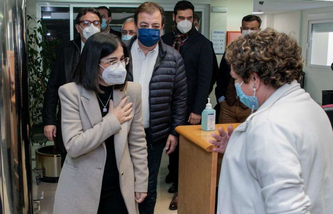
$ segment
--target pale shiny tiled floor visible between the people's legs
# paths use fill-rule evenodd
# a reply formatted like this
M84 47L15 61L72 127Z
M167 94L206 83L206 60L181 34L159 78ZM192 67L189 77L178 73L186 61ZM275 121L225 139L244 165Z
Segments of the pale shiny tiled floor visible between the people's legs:
M31 148L32 158L35 158L35 149L38 146ZM168 156L164 153L162 157L162 163L159 172L158 184L157 184L157 202L155 206L155 214L176 214L177 210L169 210L169 204L172 199L173 194L167 192L170 184L165 183L165 176L168 173L167 170ZM35 167L35 162L33 161L32 167ZM33 173L33 178L37 174ZM37 211L35 214L52 214L54 195L57 188L56 183L45 183L40 182L39 185L36 183L36 179L33 179L33 197L34 199L41 199L41 211Z

